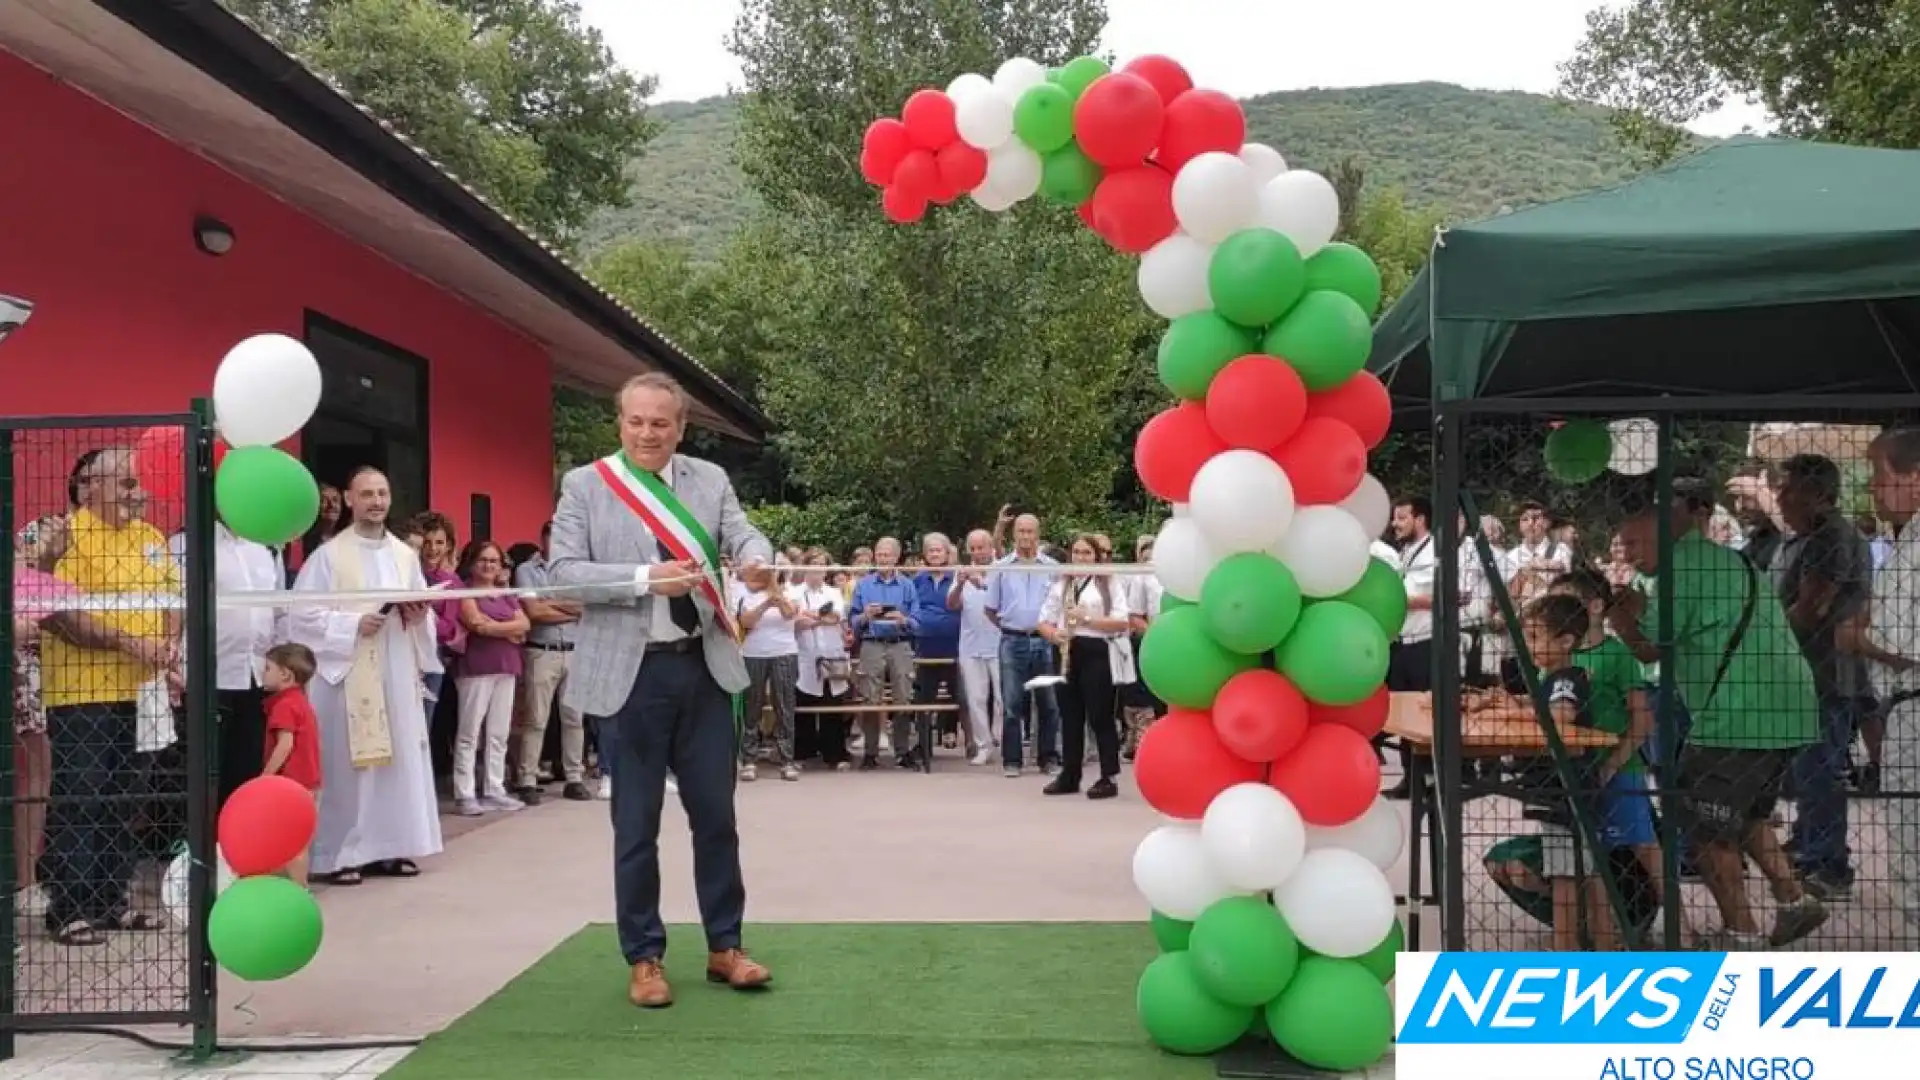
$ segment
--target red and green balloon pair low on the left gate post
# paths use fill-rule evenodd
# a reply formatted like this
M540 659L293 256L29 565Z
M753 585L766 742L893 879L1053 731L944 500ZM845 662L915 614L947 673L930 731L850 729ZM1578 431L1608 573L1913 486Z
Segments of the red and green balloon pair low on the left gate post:
M313 792L286 776L248 780L221 807L221 867L234 880L221 882L207 947L248 982L286 978L321 951L321 905L280 876L313 844L315 824Z

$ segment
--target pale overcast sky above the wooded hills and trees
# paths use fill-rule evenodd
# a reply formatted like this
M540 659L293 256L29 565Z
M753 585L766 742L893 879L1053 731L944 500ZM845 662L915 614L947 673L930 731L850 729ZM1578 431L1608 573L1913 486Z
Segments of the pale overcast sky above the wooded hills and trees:
M1308 86L1457 83L1551 92L1596 0L1108 0L1104 46L1162 52L1235 96ZM620 63L660 79L657 102L739 85L726 35L735 0L580 0ZM954 75L960 75L954 71ZM991 75L991 73L989 73ZM1764 113L1732 106L1692 127L1736 135Z

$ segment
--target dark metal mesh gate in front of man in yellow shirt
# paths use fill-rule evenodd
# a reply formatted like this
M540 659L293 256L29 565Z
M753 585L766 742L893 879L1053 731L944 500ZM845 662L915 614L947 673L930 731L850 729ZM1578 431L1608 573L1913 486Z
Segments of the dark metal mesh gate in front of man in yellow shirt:
M207 415L0 419L0 1059L119 1024L213 1049Z

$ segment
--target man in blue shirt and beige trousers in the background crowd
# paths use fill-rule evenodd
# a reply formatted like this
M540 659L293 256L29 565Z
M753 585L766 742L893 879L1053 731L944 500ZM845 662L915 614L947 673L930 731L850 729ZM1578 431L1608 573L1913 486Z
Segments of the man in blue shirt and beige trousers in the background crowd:
M881 686L893 694L891 713L893 763L900 769L918 765L912 749L914 700L914 582L900 577L900 542L881 536L874 544L874 573L852 586L852 636L860 644L860 700L879 705ZM885 680L885 682L881 682ZM889 713L864 713L860 732L860 771L879 769L879 719Z

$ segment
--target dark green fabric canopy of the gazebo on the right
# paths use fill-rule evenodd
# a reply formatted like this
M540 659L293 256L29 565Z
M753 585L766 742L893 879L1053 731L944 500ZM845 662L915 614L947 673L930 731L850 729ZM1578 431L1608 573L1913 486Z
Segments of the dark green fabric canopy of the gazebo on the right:
M1920 392L1920 152L1738 140L1442 231L1380 319L1396 411Z

